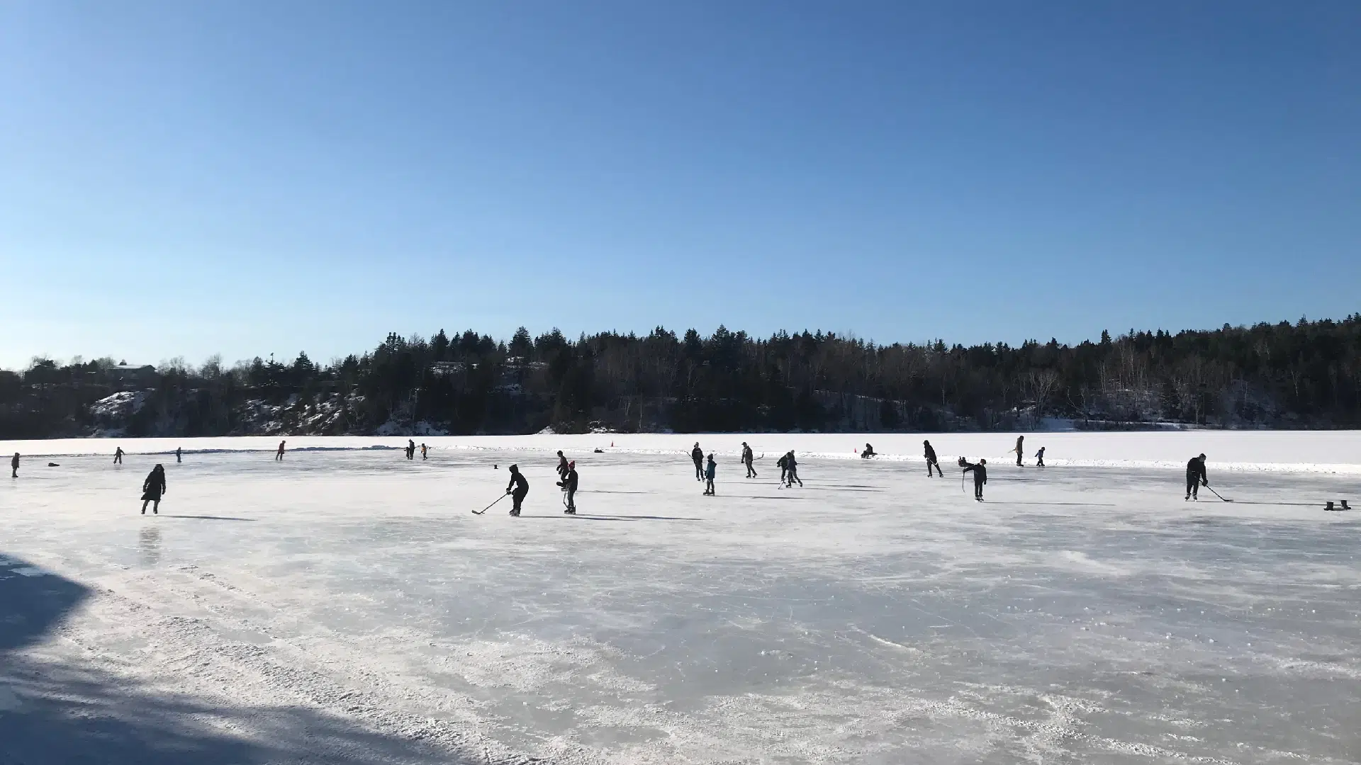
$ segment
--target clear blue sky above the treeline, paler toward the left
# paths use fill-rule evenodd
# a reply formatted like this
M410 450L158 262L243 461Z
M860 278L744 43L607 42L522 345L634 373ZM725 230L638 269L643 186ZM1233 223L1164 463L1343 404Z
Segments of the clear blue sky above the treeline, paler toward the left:
M0 365L1361 310L1361 3L0 4Z

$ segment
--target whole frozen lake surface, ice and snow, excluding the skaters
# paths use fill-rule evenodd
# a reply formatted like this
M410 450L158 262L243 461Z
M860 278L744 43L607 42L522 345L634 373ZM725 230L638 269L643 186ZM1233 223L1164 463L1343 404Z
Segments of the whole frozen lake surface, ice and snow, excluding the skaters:
M1361 761L1361 434L931 440L0 442L0 762Z

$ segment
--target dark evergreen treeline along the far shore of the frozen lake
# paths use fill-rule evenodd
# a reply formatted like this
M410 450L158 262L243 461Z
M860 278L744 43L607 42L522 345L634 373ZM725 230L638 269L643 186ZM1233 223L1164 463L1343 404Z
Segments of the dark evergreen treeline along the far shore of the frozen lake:
M127 392L122 396L113 393ZM114 407L109 402L122 408ZM101 403L102 402L102 403ZM0 438L116 430L528 433L676 430L1361 426L1361 314L1342 321L1135 332L1077 346L875 344L832 332L753 338L664 328L569 339L519 329L388 335L327 365L34 359L0 372Z

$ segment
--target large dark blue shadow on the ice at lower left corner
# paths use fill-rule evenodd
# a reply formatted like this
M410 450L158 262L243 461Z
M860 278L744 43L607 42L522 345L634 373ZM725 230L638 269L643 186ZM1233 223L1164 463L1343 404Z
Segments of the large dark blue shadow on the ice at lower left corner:
M0 555L0 762L472 762L314 709L220 708L23 652L49 640L65 615L93 595L82 584ZM250 731L250 738L233 730Z

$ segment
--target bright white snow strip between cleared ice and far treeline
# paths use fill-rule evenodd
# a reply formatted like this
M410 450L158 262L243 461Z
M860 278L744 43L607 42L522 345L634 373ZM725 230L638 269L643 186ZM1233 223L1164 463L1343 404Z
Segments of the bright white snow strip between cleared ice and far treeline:
M857 459L868 441L876 460L921 464L921 441L930 438L942 464L960 455L969 459L1010 463L1017 436L1025 436L1026 464L1045 446L1051 467L1120 467L1180 470L1204 452L1210 470L1345 472L1361 474L1361 432L1357 430L1194 430L1139 433L602 433L558 436L425 436L434 449L520 449L588 453L607 452L687 455L695 441L706 452L736 456L747 441L757 455L793 449L802 459ZM407 436L299 436L287 437L290 451L400 449ZM177 446L193 452L272 452L280 437L230 438L61 438L0 441L0 453L29 456L112 455L116 446L128 453L169 453Z

